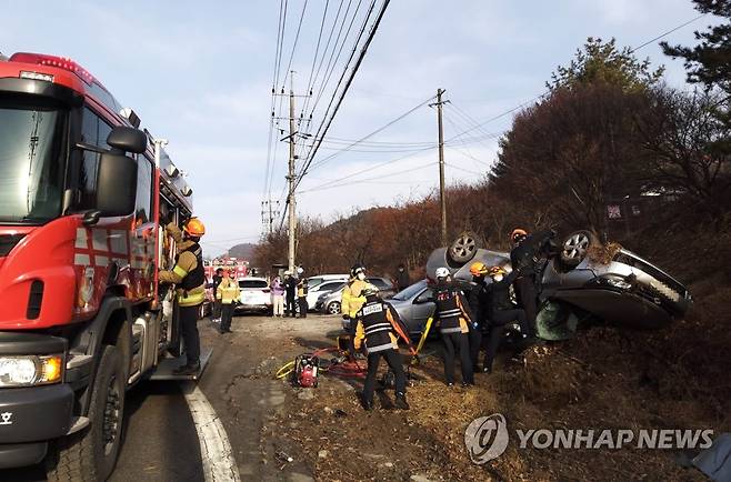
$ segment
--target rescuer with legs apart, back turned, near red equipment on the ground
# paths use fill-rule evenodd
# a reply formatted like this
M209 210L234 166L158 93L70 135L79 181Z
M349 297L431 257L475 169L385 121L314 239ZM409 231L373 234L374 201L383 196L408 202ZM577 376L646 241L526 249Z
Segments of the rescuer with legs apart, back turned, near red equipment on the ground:
M378 289L366 284L360 293L366 302L356 312L356 338L353 344L360 350L364 344L368 355L368 375L363 384L361 402L363 409L373 410L373 391L375 390L375 375L381 358L385 360L395 378L395 406L409 410L407 402L407 376L403 372L401 354L399 353L395 323L398 313L390 304L384 303L378 294ZM364 341L364 343L363 343Z

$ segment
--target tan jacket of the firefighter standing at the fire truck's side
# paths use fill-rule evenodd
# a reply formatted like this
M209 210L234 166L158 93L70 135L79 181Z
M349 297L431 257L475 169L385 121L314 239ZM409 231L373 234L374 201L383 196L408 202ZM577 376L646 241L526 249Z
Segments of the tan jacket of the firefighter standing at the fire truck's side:
M166 231L176 241L178 255L172 271L160 271L158 279L161 283L176 284L180 307L197 307L206 301L203 251L197 242L183 240L176 223L169 223Z

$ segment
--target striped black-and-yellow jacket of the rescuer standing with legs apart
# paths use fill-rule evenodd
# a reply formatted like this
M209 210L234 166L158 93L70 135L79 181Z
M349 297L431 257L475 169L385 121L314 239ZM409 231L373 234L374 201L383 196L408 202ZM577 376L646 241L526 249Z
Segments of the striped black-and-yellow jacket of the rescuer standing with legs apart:
M353 340L356 350L360 350L363 340L368 354L399 348L393 329L395 320L392 310L389 304L378 299L363 303L354 317L358 321Z

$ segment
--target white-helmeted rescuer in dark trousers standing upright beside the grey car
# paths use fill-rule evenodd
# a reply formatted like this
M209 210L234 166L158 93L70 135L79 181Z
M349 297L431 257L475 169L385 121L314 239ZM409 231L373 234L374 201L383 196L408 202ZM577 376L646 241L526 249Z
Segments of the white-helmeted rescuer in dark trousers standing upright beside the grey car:
M434 289L437 308L434 322L444 343L444 379L448 386L454 385L454 352L459 351L462 368L462 386L474 385L472 361L470 360L469 327L471 315L464 294L452 285L452 277L447 268L437 269Z

